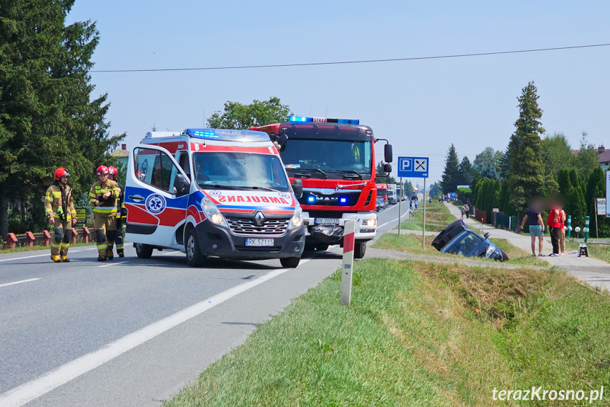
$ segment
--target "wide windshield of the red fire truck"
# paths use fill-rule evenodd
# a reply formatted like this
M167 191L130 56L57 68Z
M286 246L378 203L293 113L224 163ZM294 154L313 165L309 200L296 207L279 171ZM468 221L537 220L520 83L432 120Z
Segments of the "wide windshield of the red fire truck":
M371 142L291 137L287 140L286 149L281 155L291 176L293 172L312 171L312 178L357 176L363 179L364 176L370 178L372 174L371 153Z

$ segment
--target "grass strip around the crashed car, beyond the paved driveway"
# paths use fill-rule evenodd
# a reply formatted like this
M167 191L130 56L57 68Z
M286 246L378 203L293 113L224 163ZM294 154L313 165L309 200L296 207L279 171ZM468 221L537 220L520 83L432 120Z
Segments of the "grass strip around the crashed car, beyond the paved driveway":
M421 248L421 235L416 234L401 234L398 236L393 233L383 234L375 244L373 248L386 248L390 250L406 251L413 254L427 254L430 256L442 256L449 258L465 258L462 255L454 255L447 253L440 253L440 251L433 248L432 241L435 236L426 236L426 244ZM520 264L520 265L540 265L542 267L548 267L549 263L541 260L540 258L532 257L531 253L523 251L520 248L512 246L506 239L490 239L495 246L498 246L508 255L508 261L505 263L509 264ZM480 260L480 261L494 261L486 258L468 258L469 260Z

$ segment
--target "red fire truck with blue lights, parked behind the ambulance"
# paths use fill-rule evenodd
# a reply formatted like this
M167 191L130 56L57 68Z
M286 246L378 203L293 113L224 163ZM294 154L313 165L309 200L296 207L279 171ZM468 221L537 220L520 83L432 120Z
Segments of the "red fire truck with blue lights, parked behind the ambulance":
M305 223L305 249L327 250L343 244L346 220L356 221L354 257L363 258L375 238L375 142L383 140L385 161L392 146L375 139L359 120L291 116L290 121L250 127L269 134L281 151L291 183L303 183L299 198ZM385 164L384 171L392 171ZM299 182L300 181L300 182Z

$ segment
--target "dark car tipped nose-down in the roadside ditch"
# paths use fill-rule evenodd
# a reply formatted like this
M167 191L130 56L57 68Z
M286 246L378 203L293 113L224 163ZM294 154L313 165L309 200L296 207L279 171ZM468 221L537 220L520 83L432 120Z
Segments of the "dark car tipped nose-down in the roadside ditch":
M441 253L491 258L498 261L508 260L506 253L491 243L488 237L488 233L481 236L476 231L471 231L462 219L458 219L434 238L432 246Z

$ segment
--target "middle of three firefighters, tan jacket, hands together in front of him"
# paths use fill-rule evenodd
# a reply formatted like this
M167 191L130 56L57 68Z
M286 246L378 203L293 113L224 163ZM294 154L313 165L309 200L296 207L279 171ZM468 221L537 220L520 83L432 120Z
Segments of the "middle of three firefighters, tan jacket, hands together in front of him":
M117 200L121 195L119 185L108 179L108 167L98 167L98 180L91 185L89 204L93 207L95 242L98 244L98 261L112 260L112 246L117 237Z

